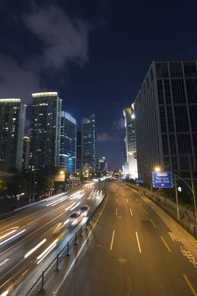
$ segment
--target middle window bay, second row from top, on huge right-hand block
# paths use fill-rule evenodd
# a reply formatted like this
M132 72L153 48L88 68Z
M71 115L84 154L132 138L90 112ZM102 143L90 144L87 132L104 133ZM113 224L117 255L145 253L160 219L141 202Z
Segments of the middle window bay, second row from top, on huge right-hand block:
M186 103L183 79L172 79L172 96L174 104Z

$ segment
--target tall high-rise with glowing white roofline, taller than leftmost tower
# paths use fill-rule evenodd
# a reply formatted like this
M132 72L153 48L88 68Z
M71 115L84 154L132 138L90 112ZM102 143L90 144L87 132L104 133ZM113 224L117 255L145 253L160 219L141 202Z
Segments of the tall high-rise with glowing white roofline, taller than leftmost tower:
M62 100L57 92L35 93L30 130L30 167L60 166Z

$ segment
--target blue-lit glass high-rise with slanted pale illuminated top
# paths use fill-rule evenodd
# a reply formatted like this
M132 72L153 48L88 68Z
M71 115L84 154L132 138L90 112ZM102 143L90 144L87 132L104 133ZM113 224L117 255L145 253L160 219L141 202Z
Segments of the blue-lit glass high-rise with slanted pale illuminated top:
M67 112L62 111L60 166L70 174L76 173L76 120Z

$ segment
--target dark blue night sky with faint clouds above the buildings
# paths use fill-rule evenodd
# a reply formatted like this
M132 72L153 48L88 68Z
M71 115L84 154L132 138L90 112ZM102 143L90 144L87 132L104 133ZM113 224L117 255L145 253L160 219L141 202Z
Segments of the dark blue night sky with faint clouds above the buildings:
M58 91L81 127L96 114L98 158L123 164L123 108L153 60L197 59L197 1L0 1L0 98ZM31 107L27 109L26 131Z

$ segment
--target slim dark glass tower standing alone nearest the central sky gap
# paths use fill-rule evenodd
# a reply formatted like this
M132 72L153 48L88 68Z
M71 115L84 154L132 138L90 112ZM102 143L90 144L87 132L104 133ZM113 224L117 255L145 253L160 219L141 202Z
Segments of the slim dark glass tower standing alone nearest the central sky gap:
M97 133L95 114L92 114L88 118L82 118L81 133L82 166L91 167L95 171L97 167Z

